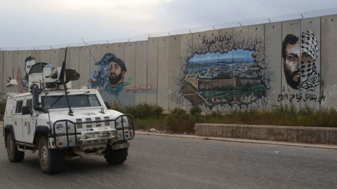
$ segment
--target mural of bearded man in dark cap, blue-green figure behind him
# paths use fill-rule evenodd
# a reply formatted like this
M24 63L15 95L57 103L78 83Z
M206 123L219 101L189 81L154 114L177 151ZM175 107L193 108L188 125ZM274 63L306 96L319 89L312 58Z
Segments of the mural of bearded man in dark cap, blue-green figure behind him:
M91 83L91 88L98 88L98 91L106 91L111 95L114 93L118 96L126 86L131 85L130 80L124 81L124 75L127 71L125 63L117 58L113 53L106 53L103 58L96 62L100 70L93 71L92 79L96 79L96 83Z

